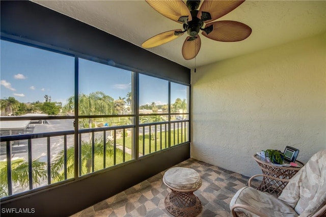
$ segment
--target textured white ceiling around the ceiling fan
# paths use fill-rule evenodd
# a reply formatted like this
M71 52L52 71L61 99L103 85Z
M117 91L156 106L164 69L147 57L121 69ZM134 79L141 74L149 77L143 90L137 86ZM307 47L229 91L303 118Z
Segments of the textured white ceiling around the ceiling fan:
M182 24L162 16L145 1L33 1L107 33L140 46L150 37ZM223 59L281 45L326 31L326 1L250 1L218 20L235 20L249 25L252 34L240 42L218 42L200 34L202 44L196 67ZM149 48L187 68L181 48L186 34L167 44Z

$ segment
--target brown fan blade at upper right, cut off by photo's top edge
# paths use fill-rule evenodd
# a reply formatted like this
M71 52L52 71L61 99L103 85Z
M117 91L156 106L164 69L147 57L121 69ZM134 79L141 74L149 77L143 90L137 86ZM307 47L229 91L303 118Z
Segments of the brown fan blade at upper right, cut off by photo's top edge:
M201 19L202 12L210 13L211 19L205 20L205 23L218 19L227 13L236 9L243 1L219 1L219 0L204 0L200 7L197 17Z

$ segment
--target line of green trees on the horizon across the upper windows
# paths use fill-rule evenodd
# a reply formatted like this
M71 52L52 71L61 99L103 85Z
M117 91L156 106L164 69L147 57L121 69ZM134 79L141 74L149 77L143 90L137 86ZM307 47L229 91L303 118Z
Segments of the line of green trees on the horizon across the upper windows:
M44 113L47 115L73 115L74 114L74 96L67 99L63 106L61 102L51 102L51 97L44 96L45 102L36 101L33 103L21 103L14 97L0 99L1 115L23 115L28 113ZM79 94L79 115L101 115L101 114L125 114L131 110L131 92L126 97L114 100L112 97L105 95L102 91L92 92L89 95ZM186 111L186 100L177 98L171 104L171 112L178 113L180 110ZM152 110L153 113L161 110L162 113L168 113L168 105L156 105L155 102L140 106L141 110Z

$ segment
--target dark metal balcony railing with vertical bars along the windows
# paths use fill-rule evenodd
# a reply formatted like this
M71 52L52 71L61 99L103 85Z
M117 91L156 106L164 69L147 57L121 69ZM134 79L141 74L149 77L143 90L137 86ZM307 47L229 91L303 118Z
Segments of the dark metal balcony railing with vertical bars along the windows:
M77 141L78 151L75 150L73 130L2 136L1 144L6 147L6 161L3 163L6 166L0 168L3 170L1 197L18 195L60 181L78 178L184 143L188 141L188 122L188 120L175 120L139 124L137 136L135 125L80 129ZM134 147L134 141L137 139L139 141L138 153ZM13 144L16 143L25 147L19 150L20 152L26 152L25 162L23 162L25 168L18 168L21 172L18 178L17 171L13 173L17 169L15 166L17 160L12 158L13 148L17 147ZM59 143L63 144L60 148L58 148ZM54 146L56 149L53 148ZM46 154L43 153L41 158L33 159L33 152L40 148ZM78 154L78 177L74 175L75 154ZM61 161L58 161L58 156L61 157ZM98 160L99 158L102 159ZM71 159L73 159L72 162ZM89 159L91 161L87 161ZM57 165L54 162L57 162ZM58 162L61 162L59 166ZM3 180L4 178L6 181ZM23 182L19 183L21 180Z

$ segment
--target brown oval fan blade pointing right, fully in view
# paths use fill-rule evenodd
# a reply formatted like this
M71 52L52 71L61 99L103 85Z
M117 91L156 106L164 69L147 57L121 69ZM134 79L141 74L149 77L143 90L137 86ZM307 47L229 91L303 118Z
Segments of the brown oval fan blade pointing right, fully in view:
M211 33L202 32L203 36L220 42L238 42L247 39L252 30L251 28L237 21L223 20L206 24L205 28L213 26Z

